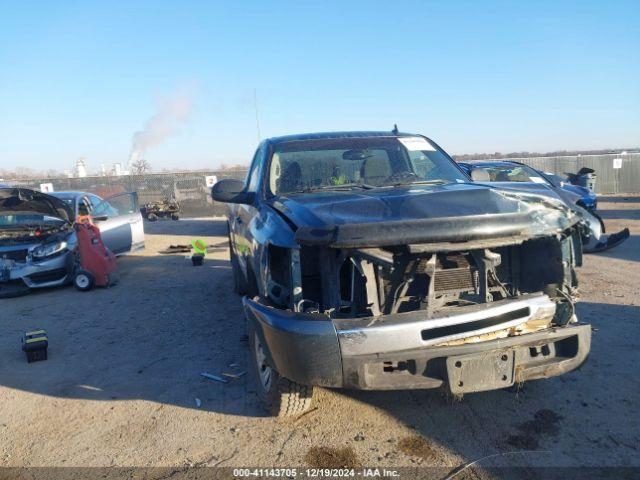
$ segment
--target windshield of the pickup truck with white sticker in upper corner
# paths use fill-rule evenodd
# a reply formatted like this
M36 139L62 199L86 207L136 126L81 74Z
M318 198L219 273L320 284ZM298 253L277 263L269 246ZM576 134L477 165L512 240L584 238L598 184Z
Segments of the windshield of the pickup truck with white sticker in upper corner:
M446 154L423 137L359 137L276 145L268 185L278 195L466 181Z

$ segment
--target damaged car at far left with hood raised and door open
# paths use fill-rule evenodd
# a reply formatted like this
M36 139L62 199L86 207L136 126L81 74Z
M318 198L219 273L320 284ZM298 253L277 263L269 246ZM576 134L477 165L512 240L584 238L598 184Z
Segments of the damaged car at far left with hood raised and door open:
M144 245L135 194L103 200L86 192L54 196L0 188L0 296L70 283L77 265L73 225L86 215L92 216L114 253Z

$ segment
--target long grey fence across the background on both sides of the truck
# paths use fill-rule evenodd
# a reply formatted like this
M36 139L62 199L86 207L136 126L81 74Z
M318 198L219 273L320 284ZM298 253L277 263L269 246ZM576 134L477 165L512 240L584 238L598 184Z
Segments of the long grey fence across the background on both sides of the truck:
M608 155L574 155L558 157L510 158L545 172L564 175L582 167L593 168L598 175L596 192L640 193L640 153ZM488 160L484 160L488 161ZM5 183L40 189L51 184L54 191L86 191L101 197L120 192L137 192L140 204L175 199L181 215L200 217L224 215L226 206L211 199L207 177L244 179L246 168L197 172L151 173L144 175L99 176L83 178L41 178Z

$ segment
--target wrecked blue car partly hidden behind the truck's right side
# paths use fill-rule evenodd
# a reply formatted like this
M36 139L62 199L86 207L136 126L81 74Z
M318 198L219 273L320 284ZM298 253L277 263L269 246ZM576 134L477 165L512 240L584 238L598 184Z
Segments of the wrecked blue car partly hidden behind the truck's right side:
M459 163L462 169L475 181L538 191L546 194L553 190L568 205L576 205L587 211L590 228L582 236L583 251L598 253L617 247L627 240L631 233L628 228L606 235L604 221L596 213L597 198L591 190L572 185L568 180L552 173L540 172L523 163L514 161L491 161Z

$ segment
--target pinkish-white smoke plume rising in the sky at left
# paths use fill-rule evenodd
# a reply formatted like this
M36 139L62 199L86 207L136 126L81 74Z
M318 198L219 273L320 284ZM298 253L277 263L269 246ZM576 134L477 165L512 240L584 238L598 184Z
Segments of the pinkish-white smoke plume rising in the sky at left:
M133 134L129 166L140 160L149 148L180 132L180 127L188 122L192 112L193 99L183 91L159 98L158 112L147 120L144 130Z

